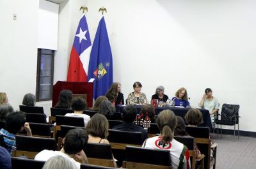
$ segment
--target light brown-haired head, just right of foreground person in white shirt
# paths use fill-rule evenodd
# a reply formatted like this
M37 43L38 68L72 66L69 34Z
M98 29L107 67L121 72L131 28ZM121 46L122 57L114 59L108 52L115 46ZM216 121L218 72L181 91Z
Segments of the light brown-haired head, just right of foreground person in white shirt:
M108 119L102 114L93 115L85 128L88 135L97 136L103 139L108 137L108 129Z

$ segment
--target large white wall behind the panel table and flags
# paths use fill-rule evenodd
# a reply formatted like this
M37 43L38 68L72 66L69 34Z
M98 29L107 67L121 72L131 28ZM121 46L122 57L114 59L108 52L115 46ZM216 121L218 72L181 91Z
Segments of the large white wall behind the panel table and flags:
M211 87L221 105L241 106L241 129L255 131L255 5L249 0L94 0L88 1L87 19L93 41L99 8L107 8L114 80L121 82L125 97L140 81L148 98L157 85L170 97L186 87L197 106Z

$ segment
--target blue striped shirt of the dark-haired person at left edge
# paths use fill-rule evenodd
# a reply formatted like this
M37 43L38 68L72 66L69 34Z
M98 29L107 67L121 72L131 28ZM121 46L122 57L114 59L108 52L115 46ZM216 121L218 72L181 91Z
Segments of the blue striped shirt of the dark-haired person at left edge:
M5 147L7 151L12 155L12 151L16 150L15 135L8 133L8 131L3 128L0 130L0 134L4 136Z

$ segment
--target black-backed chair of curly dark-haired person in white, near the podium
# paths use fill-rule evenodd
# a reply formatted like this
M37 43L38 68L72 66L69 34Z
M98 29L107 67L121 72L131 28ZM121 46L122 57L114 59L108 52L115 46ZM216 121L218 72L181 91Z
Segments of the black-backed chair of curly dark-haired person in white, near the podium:
M84 119L83 117L56 115L56 126L54 126L53 129L53 138L58 138L58 136L56 137L56 133L60 131L61 125L84 127Z

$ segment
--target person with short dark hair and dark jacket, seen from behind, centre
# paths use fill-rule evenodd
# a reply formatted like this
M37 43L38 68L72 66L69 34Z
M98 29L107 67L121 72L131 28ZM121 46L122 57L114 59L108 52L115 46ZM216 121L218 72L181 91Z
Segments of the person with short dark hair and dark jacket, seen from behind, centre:
M124 107L122 111L122 117L124 119L123 124L120 124L118 126L114 126L113 129L121 130L121 131L139 131L142 133L143 142L145 139L148 138L147 131L145 131L144 128L141 128L140 126L136 126L134 124L134 121L136 119L136 108L132 105L128 105Z

